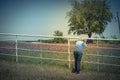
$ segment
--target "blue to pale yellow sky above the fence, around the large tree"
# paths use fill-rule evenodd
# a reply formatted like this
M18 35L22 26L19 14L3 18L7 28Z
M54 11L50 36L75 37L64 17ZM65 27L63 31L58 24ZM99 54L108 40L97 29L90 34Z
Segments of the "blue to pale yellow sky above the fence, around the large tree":
M108 1L114 16L116 11L120 14L120 0ZM70 10L69 0L0 0L0 33L53 35L60 30L67 36L66 14ZM108 24L104 35L120 36L115 19Z

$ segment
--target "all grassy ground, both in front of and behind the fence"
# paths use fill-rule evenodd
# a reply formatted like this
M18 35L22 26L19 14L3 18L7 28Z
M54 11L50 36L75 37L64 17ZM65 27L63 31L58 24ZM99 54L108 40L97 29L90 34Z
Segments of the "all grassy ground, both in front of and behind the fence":
M14 47L14 43L5 43L1 47ZM70 58L73 60L73 48L71 46ZM98 64L84 63L84 61L109 63L120 65L120 49L97 49L87 48L84 52L81 65L81 73L79 75L71 73L73 62L71 61L71 68L68 68L68 53L67 45L64 44L32 44L32 43L18 43L18 62L16 63L15 49L0 48L0 53L12 54L14 56L0 55L0 80L119 80L120 66L99 65L99 72L97 72ZM28 50L21 50L28 49ZM37 50L37 51L35 51ZM41 51L42 50L42 51ZM49 52L50 51L50 52ZM51 52L55 51L55 52ZM57 52L56 52L57 51ZM65 52L65 53L62 53ZM86 54L94 54L101 56L91 56ZM29 56L29 57L20 57ZM114 57L103 57L117 56ZM34 57L34 58L33 58ZM37 57L37 58L35 58ZM66 61L41 59L54 58Z

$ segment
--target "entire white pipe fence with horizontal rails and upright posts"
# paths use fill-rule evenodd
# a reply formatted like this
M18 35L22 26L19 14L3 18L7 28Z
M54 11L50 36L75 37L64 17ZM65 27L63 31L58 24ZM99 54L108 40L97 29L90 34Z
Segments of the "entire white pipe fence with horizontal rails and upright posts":
M70 43L70 40L71 39L78 39L78 37L68 37L68 36L46 36L46 35L30 35L30 34L10 34L10 33L0 33L0 36L15 36L15 53L16 55L12 55L12 54L4 54L4 53L0 53L0 55L8 55L8 56L15 56L16 57L16 62L19 61L19 57L30 57L30 58L40 58L40 59L48 59L48 60L58 60L58 61L68 61L68 67L70 68L71 67L71 62L73 60L71 60L71 43ZM68 47L68 50L67 52L59 52L59 51L49 51L49 50L45 50L46 52L54 52L54 53L67 53L68 54L68 59L54 59L54 58L44 58L42 57L42 54L40 57L34 57L34 56L22 56L22 55L18 55L18 50L26 50L26 51L41 51L41 52L44 52L44 50L31 50L31 49L24 49L24 48L18 48L18 37L38 37L38 38L65 38L68 40L68 43L67 43L67 47ZM91 39L91 40L96 40L96 48L97 49L113 49L113 50L120 50L120 46L118 48L111 48L111 47L100 47L99 46L99 40L109 40L109 41L120 41L120 39L101 39L101 38L85 38L86 40L87 39ZM0 44L1 45L1 44ZM90 47L90 46L89 46ZM95 46L94 46L95 47ZM0 48L4 48L4 47L0 47ZM90 48L93 48L93 47L90 47ZM6 49L12 49L12 48L6 48ZM119 52L120 54L120 52ZM100 71L100 66L99 65L109 65L109 66L119 66L120 67L120 64L109 64L109 63L100 63L100 59L99 57L114 57L114 58L118 58L119 61L120 61L120 56L109 56L109 55L101 55L99 53L99 50L97 50L97 54L86 54L85 56L96 56L97 57L97 62L90 62L90 61L84 61L84 63L89 63L89 64L97 64L97 71Z

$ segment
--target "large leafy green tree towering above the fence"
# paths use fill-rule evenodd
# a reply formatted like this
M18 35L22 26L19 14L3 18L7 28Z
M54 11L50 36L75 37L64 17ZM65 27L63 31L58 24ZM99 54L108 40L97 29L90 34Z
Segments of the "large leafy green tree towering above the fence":
M73 34L102 34L113 17L107 0L71 1L72 9L68 12L69 31Z

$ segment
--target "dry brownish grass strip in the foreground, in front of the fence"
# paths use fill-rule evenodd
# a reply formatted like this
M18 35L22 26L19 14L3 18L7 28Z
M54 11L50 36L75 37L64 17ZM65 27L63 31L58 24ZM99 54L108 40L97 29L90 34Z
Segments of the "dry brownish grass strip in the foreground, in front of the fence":
M71 69L40 64L25 64L0 60L0 80L119 80L120 74Z

